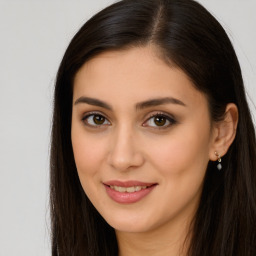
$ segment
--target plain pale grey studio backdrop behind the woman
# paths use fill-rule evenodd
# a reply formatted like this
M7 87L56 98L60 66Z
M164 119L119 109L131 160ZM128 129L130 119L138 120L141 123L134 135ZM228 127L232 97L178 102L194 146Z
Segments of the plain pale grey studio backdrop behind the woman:
M256 1L200 0L230 36L256 117ZM0 0L0 256L50 255L54 80L80 26L111 0Z

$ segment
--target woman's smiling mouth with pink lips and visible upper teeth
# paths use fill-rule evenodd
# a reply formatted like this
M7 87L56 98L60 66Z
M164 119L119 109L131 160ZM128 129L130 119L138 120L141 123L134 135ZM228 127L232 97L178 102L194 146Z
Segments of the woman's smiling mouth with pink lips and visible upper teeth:
M136 203L146 197L155 187L156 183L140 181L108 181L103 183L108 196L117 203Z

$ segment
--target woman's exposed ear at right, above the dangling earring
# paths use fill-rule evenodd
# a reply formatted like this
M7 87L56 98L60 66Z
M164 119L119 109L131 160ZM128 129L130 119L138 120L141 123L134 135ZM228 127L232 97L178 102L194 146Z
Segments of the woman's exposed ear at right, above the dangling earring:
M215 122L213 127L213 143L209 152L209 158L216 161L218 157L215 152L220 156L224 156L236 136L236 129L238 123L238 109L233 103L229 103L226 107L223 120Z

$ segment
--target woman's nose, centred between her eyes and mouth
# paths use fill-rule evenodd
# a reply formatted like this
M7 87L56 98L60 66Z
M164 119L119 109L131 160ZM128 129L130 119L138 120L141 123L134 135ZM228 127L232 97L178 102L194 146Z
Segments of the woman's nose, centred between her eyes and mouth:
M118 171L136 168L144 163L141 145L135 132L128 127L117 129L112 134L108 164Z

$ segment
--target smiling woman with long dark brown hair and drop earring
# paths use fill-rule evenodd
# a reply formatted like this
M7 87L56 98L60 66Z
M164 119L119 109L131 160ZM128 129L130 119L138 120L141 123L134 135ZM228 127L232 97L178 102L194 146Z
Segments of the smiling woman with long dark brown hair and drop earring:
M256 255L240 66L191 0L123 0L75 35L55 87L52 255Z

